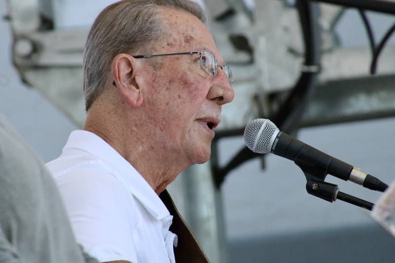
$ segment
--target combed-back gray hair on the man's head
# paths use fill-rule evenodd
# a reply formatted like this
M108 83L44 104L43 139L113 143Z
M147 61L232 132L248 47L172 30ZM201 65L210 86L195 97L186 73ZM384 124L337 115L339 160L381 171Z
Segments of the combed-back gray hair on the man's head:
M113 59L150 46L165 34L158 7L185 10L203 23L206 16L192 0L122 0L107 6L89 31L83 56L85 110L103 92Z

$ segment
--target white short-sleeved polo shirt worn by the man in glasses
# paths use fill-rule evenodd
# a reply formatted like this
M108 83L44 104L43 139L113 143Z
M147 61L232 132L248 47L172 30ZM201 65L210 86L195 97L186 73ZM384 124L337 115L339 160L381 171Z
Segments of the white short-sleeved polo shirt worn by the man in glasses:
M97 135L73 131L46 164L78 242L100 262L175 262L173 217L144 178Z

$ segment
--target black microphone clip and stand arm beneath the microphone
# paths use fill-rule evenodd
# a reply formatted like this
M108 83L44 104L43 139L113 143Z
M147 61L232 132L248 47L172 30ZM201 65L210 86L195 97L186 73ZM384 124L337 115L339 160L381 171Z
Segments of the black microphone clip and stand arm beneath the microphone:
M324 182L327 176L327 167L315 165L297 156L295 164L302 169L306 176L306 190L308 193L333 203L337 199L372 211L374 204L355 196L339 191L337 185Z

